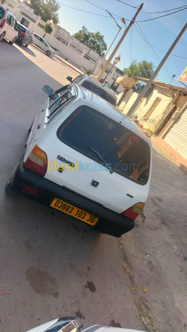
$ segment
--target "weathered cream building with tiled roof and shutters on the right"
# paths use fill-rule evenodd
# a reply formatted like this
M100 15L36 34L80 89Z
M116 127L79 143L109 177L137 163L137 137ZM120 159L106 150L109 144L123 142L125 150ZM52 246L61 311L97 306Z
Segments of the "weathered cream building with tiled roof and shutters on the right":
M134 77L137 82L132 88L126 88L118 96L117 106L127 113L144 83L148 79ZM160 81L153 81L133 115L143 128L157 136L155 142L181 162L187 168L187 88L181 88ZM186 171L185 171L186 172Z

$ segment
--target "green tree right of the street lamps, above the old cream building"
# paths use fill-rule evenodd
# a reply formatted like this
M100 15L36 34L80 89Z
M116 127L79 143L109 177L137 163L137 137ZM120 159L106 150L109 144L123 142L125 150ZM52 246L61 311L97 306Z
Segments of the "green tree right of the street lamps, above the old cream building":
M150 78L154 73L154 68L153 62L143 60L137 63L137 60L133 60L128 68L123 68L123 71L129 76Z

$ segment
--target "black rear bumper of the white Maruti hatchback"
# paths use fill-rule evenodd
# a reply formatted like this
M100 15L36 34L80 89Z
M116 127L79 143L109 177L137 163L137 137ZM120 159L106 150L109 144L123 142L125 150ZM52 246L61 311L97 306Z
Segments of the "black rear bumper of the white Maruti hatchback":
M134 220L109 210L66 187L61 187L48 179L29 172L23 167L23 159L24 157L20 159L10 177L11 190L17 195L36 201L47 207L50 206L55 197L62 201L64 200L65 202L99 217L95 226L91 227L112 236L120 237L122 234L127 233L134 228ZM39 194L36 196L28 193L23 189L23 185L28 185L37 189ZM76 220L78 221L78 219Z

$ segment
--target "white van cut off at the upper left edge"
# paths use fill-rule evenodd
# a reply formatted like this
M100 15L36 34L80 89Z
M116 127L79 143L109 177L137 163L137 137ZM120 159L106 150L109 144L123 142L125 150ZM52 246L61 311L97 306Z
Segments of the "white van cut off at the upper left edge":
M6 39L13 45L17 39L18 31L15 15L0 5L0 41Z

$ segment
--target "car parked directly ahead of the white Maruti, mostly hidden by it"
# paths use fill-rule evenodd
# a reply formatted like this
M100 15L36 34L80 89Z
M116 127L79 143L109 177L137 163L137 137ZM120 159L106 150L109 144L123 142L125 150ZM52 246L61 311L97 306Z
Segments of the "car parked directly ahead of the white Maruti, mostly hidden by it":
M80 75L76 77L74 80L71 76L66 77L66 79L72 83L76 83L81 85L83 88L88 89L95 93L97 96L103 98L110 104L116 106L117 99L116 95L112 90L109 90L102 83L96 81L94 78L90 77L87 74Z

